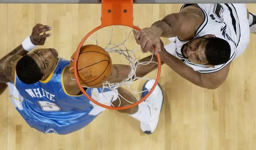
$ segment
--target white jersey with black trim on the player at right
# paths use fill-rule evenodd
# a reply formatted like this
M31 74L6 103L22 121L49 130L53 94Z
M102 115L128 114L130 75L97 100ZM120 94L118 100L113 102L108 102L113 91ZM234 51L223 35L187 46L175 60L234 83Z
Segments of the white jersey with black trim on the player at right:
M184 4L181 10L191 4ZM247 20L247 12L245 4L197 4L204 12L204 22L197 29L193 39L203 37L205 35L215 35L216 37L226 40L231 47L230 59L227 63L216 65L214 68L205 65L194 64L181 54L181 47L189 41L182 41L175 37L175 53L176 57L182 59L183 62L200 73L212 73L219 71L227 66L233 59L241 55L246 49L249 38L249 22ZM245 8L245 9L244 9ZM239 10L238 10L239 9ZM245 19L244 19L245 18ZM247 20L247 22L246 22ZM240 22L239 22L240 21ZM241 22L242 21L242 22ZM243 24L243 26L241 26ZM248 25L247 25L248 24ZM242 29L243 28L243 29ZM242 33L241 33L241 30ZM243 35L241 35L243 34ZM241 40L241 36L243 36ZM240 46L242 45L242 46ZM168 45L166 46L168 50ZM173 54L173 52L170 52Z

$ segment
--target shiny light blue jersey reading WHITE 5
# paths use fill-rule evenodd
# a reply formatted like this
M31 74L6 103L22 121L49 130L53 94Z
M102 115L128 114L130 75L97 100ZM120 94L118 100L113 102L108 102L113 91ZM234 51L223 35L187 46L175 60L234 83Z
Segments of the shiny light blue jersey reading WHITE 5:
M67 134L83 128L99 114L89 114L94 106L83 94L72 96L65 90L63 72L68 66L69 61L60 58L52 74L34 84L15 77L14 85L23 97L23 110L16 108L31 127L44 133ZM100 93L102 89L94 90ZM92 89L86 92L92 95Z

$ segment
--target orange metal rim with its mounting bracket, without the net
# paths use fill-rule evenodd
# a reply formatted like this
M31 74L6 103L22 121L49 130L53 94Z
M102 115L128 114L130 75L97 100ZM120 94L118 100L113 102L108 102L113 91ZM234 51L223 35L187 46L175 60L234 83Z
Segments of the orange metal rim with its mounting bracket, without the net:
M80 49L83 46L84 42L86 41L86 39L92 35L92 33L96 32L97 30L107 27L107 26L112 26L112 25L123 25L123 26L128 26L131 28L134 28L138 31L140 31L140 28L136 27L133 25L133 15L132 15L132 4L133 4L133 0L102 0L102 16L101 16L101 26L94 28L91 32L89 32L83 39L82 41L79 43L77 49L76 49L76 53L75 53L75 57L74 57L74 74L76 77L76 83L79 87L79 89L83 92L83 94L89 99L91 100L93 103L104 107L104 108L108 108L108 109L115 109L115 110L123 110L123 109L129 109L131 107L134 107L138 104L140 104L141 102L143 102L145 99L148 98L148 96L153 92L153 90L156 88L156 85L159 81L160 78L160 73L161 73L161 59L160 59L160 55L157 54L157 61L158 61L158 70L157 70L157 76L156 76L156 82L154 83L153 87L151 88L151 90L143 97L141 98L139 101L137 101L136 103L133 103L129 106L123 106L123 107L113 107L113 106L107 106L107 105L103 105L99 102L97 102L96 100L92 99L87 93L86 91L84 91L84 88L82 87L82 85L79 83L79 77L78 77L78 73L77 73L77 60L78 60L78 56L80 53ZM110 10L110 11L109 11ZM126 11L124 11L126 10ZM156 50L156 47L154 46L154 49Z

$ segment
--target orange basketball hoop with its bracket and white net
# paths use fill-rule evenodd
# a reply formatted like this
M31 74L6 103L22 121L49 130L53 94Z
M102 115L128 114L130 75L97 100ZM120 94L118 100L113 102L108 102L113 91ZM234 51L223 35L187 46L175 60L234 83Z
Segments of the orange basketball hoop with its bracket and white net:
M95 99L93 99L92 97L90 97L86 91L84 90L83 86L79 83L79 77L78 77L78 73L77 73L77 60L78 60L78 55L79 55L79 52L80 52L80 49L81 47L83 46L84 42L95 32L97 32L98 30L102 29L102 28L105 28L105 27L109 27L109 26L126 26L126 27L130 27L132 29L135 29L135 30L140 30L140 28L136 27L133 25L133 0L102 0L101 1L101 25L95 29L93 29L91 32L89 32L83 39L82 41L79 43L78 47L77 47L77 50L76 50L76 53L75 53L75 57L74 57L74 74L75 74L75 77L76 77L76 82L77 82L77 85L78 87L80 88L80 90L83 92L83 94L89 99L91 100L93 103L101 106L101 107L104 107L104 108L108 108L108 109L115 109L115 110L123 110L123 109L128 109L128 108L131 108L131 107L134 107L138 104L140 104L142 101L144 101L145 99L148 98L148 96L153 92L153 90L155 89L157 83L158 83L158 80L159 80L159 77L160 77L160 72L161 72L161 60L160 60L160 55L157 54L157 63L158 63L158 68L157 68L157 76L156 76L156 81L153 85L153 87L150 89L150 91L143 97L141 98L140 100L138 100L137 102L135 103L132 103L131 102L131 105L128 105L128 106L122 106L122 107L114 107L114 106L107 106L107 105L104 105L104 104L101 104L99 103L98 101L96 101ZM122 28L122 27L121 27ZM122 28L123 29L123 28ZM104 30L104 29L102 29ZM124 31L124 29L123 29ZM112 39L112 32L109 31L110 34L111 34L111 37L110 37L110 42L111 43L111 39ZM131 32L130 32L131 34ZM129 34L129 36L130 36ZM125 35L126 36L126 35ZM128 36L128 37L129 37ZM96 34L96 37L97 37L97 34ZM125 41L127 40L127 38L125 39ZM96 39L92 39L92 40L96 40L96 43L98 42L97 38ZM125 43L124 41L124 43ZM121 43L120 45L124 45L124 43ZM98 44L98 43L97 43ZM125 46L125 45L124 45ZM118 47L118 45L116 46ZM154 47L154 49L156 50L156 48ZM106 51L108 52L112 52L113 48L105 48ZM130 58L133 58L132 56L130 56L129 54L127 54L126 56L126 51L128 51L127 49L125 51L122 51L122 50L114 50L115 52L118 52L119 54L122 54L122 55L125 55L125 58L129 59L129 62L130 62L130 66L133 66L131 67L132 70L135 70L136 71L136 66L134 65L135 63L132 63L132 59ZM136 51L136 50L134 50ZM133 51L131 51L133 52ZM125 53L125 54L124 54ZM134 52L133 52L134 53ZM134 59L133 59L134 60ZM136 59L137 60L137 59ZM147 63L147 62L146 62ZM143 65L143 63L141 63ZM127 81L124 81L124 82L128 82L130 81L130 83L133 81L131 79L131 76L134 75L134 72L131 71L130 75L129 75L129 79L127 79ZM135 75L136 76L136 75ZM139 78L137 78L139 79ZM106 87L110 90L113 90L115 91L116 88L118 87L121 87L124 85L124 82L122 82L122 84L117 84L117 83L109 83L109 82L106 82L103 84L103 87ZM127 84L128 85L128 84ZM129 84L130 85L130 84ZM128 86L129 86L128 85ZM104 88L103 88L104 89ZM142 91L143 92L143 91ZM137 92L136 94L138 93L141 93L141 92ZM122 96L121 96L122 97Z

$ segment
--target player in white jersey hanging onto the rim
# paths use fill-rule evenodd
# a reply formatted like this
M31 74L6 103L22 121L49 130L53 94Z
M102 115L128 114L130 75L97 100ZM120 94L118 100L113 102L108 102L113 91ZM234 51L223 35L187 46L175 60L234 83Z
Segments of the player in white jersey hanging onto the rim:
M215 89L226 80L230 62L256 33L256 18L245 4L184 4L179 13L134 31L142 51L159 52L164 63L188 81ZM163 46L160 37L172 43Z

